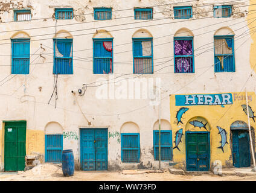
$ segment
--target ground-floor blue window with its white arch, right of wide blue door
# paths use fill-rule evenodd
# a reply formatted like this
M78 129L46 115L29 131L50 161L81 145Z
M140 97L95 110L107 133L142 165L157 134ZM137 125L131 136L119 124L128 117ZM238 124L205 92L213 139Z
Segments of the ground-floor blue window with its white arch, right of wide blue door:
M121 160L138 163L139 154L139 127L134 122L126 122L121 127Z

